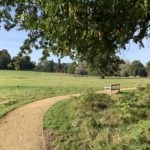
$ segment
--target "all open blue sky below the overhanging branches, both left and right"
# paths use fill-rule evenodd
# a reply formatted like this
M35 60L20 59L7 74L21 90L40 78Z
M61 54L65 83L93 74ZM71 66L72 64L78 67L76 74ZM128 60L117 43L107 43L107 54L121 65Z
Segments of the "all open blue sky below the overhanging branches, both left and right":
M26 38L27 33L23 31L5 31L4 29L0 30L0 50L7 49L11 56L16 56L19 52L19 48L22 45L24 39ZM146 64L150 61L150 39L144 40L145 48L139 49L138 45L130 42L127 45L126 51L121 51L119 54L121 58L127 59L129 61L140 60L143 64ZM38 61L42 56L41 51L34 50L31 54L31 58L33 61ZM53 59L57 62L57 57L51 54L49 59ZM70 62L69 57L65 57L62 62Z

